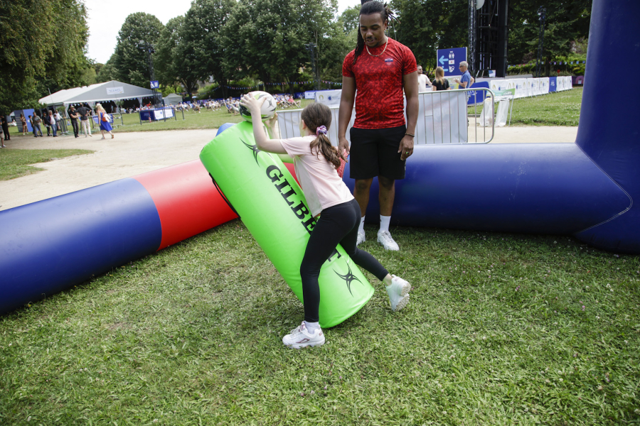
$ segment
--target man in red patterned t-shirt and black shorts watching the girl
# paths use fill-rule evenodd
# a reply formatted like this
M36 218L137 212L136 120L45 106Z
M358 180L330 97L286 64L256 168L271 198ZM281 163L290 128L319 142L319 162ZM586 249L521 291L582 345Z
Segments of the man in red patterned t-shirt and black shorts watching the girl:
M393 13L377 0L367 1L360 9L358 44L346 55L342 65L338 149L351 153L350 175L356 180L353 197L360 204L362 214L358 244L365 241L363 224L369 190L373 178L378 176L378 242L387 250L399 250L389 233L389 222L395 180L405 178L405 160L413 153L418 84L417 65L411 50L385 35L389 18L393 18ZM403 89L407 97L406 126ZM350 148L346 128L354 99L356 121L350 131Z

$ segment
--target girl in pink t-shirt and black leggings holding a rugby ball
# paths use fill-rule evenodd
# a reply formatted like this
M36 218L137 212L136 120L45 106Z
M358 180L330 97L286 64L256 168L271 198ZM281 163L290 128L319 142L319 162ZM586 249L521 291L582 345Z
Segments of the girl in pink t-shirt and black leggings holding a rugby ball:
M269 139L262 128L260 107L265 97L254 99L251 94L242 98L242 105L251 111L255 143L262 151L287 154L294 160L296 175L304 191L309 209L317 219L306 244L300 265L304 321L282 338L286 346L300 349L324 344L319 325L320 287L318 276L323 263L341 244L356 265L366 269L385 283L392 310L400 310L409 302L411 285L402 278L390 275L373 256L358 249L358 226L361 212L358 202L338 176L336 169L343 156L331 146L327 129L331 126L331 111L324 104L309 104L302 110L299 138Z

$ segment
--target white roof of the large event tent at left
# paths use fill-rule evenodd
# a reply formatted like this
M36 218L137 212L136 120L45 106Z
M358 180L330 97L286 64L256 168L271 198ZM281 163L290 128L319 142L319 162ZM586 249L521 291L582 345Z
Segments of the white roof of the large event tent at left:
M91 84L90 86L64 89L40 99L40 103L55 107L56 105L80 104L82 102L117 101L119 99L136 98L142 105L142 98L153 97L151 89L134 86L112 80L106 83Z

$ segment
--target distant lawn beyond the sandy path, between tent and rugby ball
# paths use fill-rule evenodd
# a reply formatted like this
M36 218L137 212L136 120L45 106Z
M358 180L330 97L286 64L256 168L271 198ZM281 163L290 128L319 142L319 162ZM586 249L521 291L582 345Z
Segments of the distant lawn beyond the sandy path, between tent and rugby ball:
M302 99L302 107L313 102L310 99ZM289 108L289 110L295 108ZM278 109L283 111L283 109ZM176 111L178 119L167 119L166 121L152 121L140 124L140 114L122 114L124 126L119 126L116 131L156 131L156 130L184 130L184 129L218 129L225 123L240 123L242 117L239 114L233 115L227 109L220 111L207 111L203 109L200 114L192 111L183 113Z

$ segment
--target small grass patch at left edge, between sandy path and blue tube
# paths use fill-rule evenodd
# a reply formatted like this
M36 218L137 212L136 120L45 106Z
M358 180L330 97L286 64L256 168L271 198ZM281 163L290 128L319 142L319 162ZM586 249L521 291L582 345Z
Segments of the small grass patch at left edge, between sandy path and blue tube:
M86 149L3 149L0 150L0 180L20 178L44 170L30 164L93 152Z

